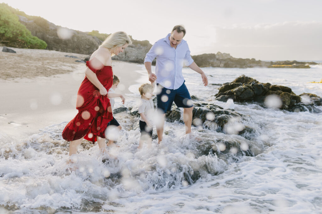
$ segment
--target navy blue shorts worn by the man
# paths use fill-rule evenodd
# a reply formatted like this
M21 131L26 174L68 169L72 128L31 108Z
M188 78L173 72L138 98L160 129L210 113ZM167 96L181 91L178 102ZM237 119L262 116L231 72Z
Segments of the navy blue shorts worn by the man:
M171 110L173 101L177 107L190 108L192 104L191 97L185 82L178 89L167 89L157 84L157 87L161 87L161 93L156 95L156 106L164 113Z

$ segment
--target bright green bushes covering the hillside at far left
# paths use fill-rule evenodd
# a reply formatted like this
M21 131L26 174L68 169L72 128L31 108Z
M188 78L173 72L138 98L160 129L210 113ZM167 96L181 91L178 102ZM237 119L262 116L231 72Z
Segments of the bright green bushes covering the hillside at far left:
M31 32L19 22L16 14L31 18L31 16L27 16L24 12L15 10L8 4L0 4L0 43L3 43L8 47L46 48L46 42L33 36ZM44 19L41 17L32 17L32 19L39 23L47 23L47 21L45 20L46 22L44 22Z

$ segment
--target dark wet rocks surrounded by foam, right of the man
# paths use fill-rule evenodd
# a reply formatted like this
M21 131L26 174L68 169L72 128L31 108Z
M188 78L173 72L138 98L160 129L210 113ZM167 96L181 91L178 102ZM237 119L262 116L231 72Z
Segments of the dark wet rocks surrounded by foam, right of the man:
M262 106L270 107L268 98L273 96L277 100L273 100L272 107L285 109L288 111L310 111L314 113L320 112L316 106L322 105L322 99L316 95L307 95L309 97L308 103L301 102L301 96L307 94L296 95L289 87L281 85L271 85L270 83L260 83L250 77L242 75L230 83L224 83L219 88L218 93L215 95L216 100L226 102L228 99L234 101L255 101L259 102ZM265 103L267 101L267 103ZM280 102L280 104L276 104ZM275 105L276 104L276 105Z

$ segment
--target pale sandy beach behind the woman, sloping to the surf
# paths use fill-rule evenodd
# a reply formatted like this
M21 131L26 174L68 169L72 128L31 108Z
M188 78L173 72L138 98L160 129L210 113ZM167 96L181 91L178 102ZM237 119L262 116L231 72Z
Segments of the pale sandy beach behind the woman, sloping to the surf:
M2 47L0 47L2 50ZM0 52L0 141L26 138L46 126L70 121L76 114L76 95L84 79L85 64L77 56L52 50L11 48L17 53ZM142 66L113 61L120 78L119 92L140 78Z

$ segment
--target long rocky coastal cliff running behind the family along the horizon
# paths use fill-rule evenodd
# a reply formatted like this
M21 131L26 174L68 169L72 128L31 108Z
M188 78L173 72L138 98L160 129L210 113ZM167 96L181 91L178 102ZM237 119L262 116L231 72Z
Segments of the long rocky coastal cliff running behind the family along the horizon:
M43 48L68 53L91 55L109 34L102 34L93 30L92 32L82 32L57 26L39 16L29 16L22 11L16 10L7 4L0 4L5 8L7 13L16 15L19 22L31 32L33 37L43 40L46 44ZM1 14L0 14L1 18ZM7 20L9 21L9 20ZM0 33L0 36L2 34ZM1 37L0 37L1 38ZM131 38L132 39L132 38ZM0 39L1 40L1 39ZM142 64L144 58L152 47L149 41L139 41L132 39L133 43L118 56L113 56L113 60L133 62ZM18 47L16 44L11 45L1 40L3 46ZM35 47L29 47L35 48ZM199 67L223 67L223 68L251 68L251 67L268 67L268 68L310 68L315 62L298 62L298 61L277 61L266 62L261 60L234 58L230 54L217 52L216 54L201 54L192 56ZM155 64L156 60L152 62Z

